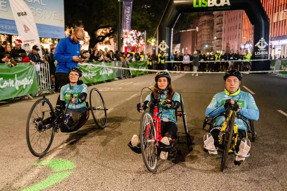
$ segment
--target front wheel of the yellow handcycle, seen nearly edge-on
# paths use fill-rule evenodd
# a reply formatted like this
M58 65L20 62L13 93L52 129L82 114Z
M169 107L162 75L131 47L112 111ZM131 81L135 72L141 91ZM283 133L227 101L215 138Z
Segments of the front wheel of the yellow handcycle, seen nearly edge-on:
M234 122L235 122L235 113L232 112L231 121L228 122L228 126L226 127L226 129L227 129L227 133L226 133L227 139L224 139L224 150L223 150L223 153L222 153L221 165L220 165L220 171L221 172L225 168L226 159L227 159L227 156L228 156L228 151L230 149L231 139L232 139L233 129L234 129Z

